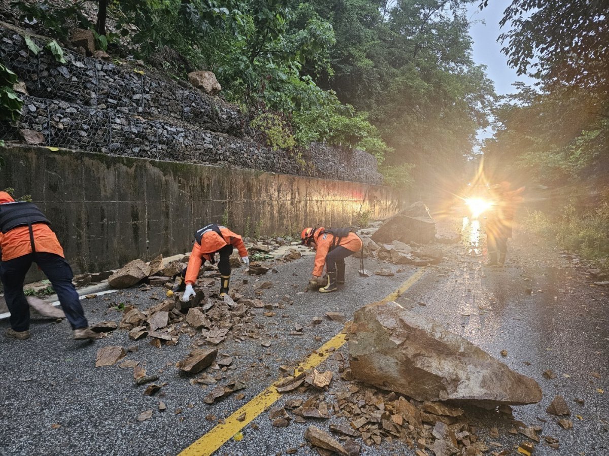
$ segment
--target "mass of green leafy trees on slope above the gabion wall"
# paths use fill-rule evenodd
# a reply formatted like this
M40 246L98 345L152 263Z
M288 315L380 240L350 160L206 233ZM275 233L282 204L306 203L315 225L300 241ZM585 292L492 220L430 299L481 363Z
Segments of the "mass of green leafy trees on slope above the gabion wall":
M426 178L465 163L494 97L471 60L469 3L125 0L109 2L117 33L96 34L96 45L120 43L175 77L213 71L229 101L259 113L269 146L303 168L298 146L321 141L414 163ZM84 4L13 2L64 40L71 27L93 28Z

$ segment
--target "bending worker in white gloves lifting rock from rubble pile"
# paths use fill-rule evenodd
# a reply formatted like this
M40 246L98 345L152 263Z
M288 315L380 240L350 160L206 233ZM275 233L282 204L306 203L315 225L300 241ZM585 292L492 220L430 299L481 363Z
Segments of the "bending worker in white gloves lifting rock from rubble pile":
M246 266L250 264L243 239L239 234L235 234L226 226L217 225L217 223L209 223L209 225L203 226L203 228L197 230L194 237L194 246L185 272L186 289L182 295L182 301L186 302L195 295L192 286L197 281L199 269L205 260L213 264L216 253L220 254L220 261L218 262L220 298L224 298L224 295L228 293L230 283L230 256L233 253L233 248L237 248L241 261Z

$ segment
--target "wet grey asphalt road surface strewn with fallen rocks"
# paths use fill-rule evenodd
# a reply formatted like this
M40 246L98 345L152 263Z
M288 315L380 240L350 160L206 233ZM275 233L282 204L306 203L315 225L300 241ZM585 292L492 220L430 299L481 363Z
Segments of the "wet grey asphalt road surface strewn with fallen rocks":
M392 277L361 278L357 275L359 259L349 258L347 284L328 295L303 292L312 268L311 256L277 263L276 272L258 278L245 275L243 268L234 270L233 285L244 296L281 305L272 309L275 315L270 317L264 315L268 309L253 309L244 340L231 336L241 334L234 329L218 345L218 359L230 356L233 364L225 370L208 368L206 372L218 379L218 385L240 381L245 388L238 391L241 395L233 393L211 405L203 402L203 398L216 385L191 385L191 377L183 376L175 368L175 363L192 349L188 335L181 335L177 345L160 349L150 345L149 339L130 340L126 331L114 331L91 343L77 342L71 339L65 321L55 323L37 318L32 323L32 337L19 341L4 335L9 326L3 320L0 455L133 456L175 455L181 451L201 454L201 447L190 447L192 443L240 407L247 408L258 393L281 377L280 366L296 367L343 328L342 323L328 318L312 324L314 317L341 312L350 320L356 309L390 295L409 278L407 290L397 298L398 303L445 322L448 329L468 338L513 370L532 377L543 389L539 404L513 407L513 416L466 410L482 440L502 445L491 451L516 454L518 444L528 440L509 432L516 420L541 427L541 443L534 454L609 454L608 289L592 286L590 279L557 251L537 245L528 236L516 235L516 239L510 240L505 268L483 268L484 245L479 236L475 226L464 222L463 242L441 246L445 250L443 261L423 271L366 260L367 269L390 268L396 272ZM244 278L248 279L247 285L242 284ZM254 286L267 280L273 282L272 288L265 289L262 296L255 296ZM161 287L150 291L129 289L83 303L91 324L104 320L119 322L122 313L110 306L125 303L147 309L159 302L150 299L155 290L158 295L164 293ZM290 335L295 324L303 326L302 335ZM97 350L110 345L138 349L116 365L95 368ZM504 349L507 357L500 354ZM337 349L337 353L348 358L347 346ZM335 374L325 393L329 404L336 393L349 386L340 380L339 357L332 353L319 365L320 370ZM155 383L162 384L161 390L154 396L144 396L146 385L133 384L132 368L118 366L124 360L138 361L147 374L157 374L159 380ZM543 377L542 373L549 369L556 374L555 379ZM307 399L313 394L290 393L273 406L283 405L287 399ZM570 430L558 426L557 416L546 413L555 395L564 396L571 409ZM166 410L158 410L160 401ZM138 421L138 416L147 410L152 410L152 417ZM298 455L314 455L317 451L303 437L310 424L325 430L329 423L348 424L343 418L331 416L327 420L292 422L288 427L277 428L271 425L268 412L248 415L247 421L236 438L220 435L209 439L219 446L216 454L259 456L295 451ZM499 437L489 435L491 427L498 429ZM558 439L559 448L544 444L544 436ZM358 441L362 443L361 439ZM380 446L363 444L361 454L414 455L415 450L393 440Z

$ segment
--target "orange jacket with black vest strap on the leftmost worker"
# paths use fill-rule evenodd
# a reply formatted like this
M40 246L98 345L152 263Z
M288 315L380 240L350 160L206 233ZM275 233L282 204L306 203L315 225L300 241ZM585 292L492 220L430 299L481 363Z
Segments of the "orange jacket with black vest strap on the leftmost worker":
M0 205L12 203L15 200L7 192L0 192ZM34 223L32 225L34 245L36 251L55 253L63 256L62 245L59 244L57 236L46 223ZM9 261L19 256L32 253L30 242L30 230L27 226L18 226L6 234L0 233L0 248L2 249L2 261Z

